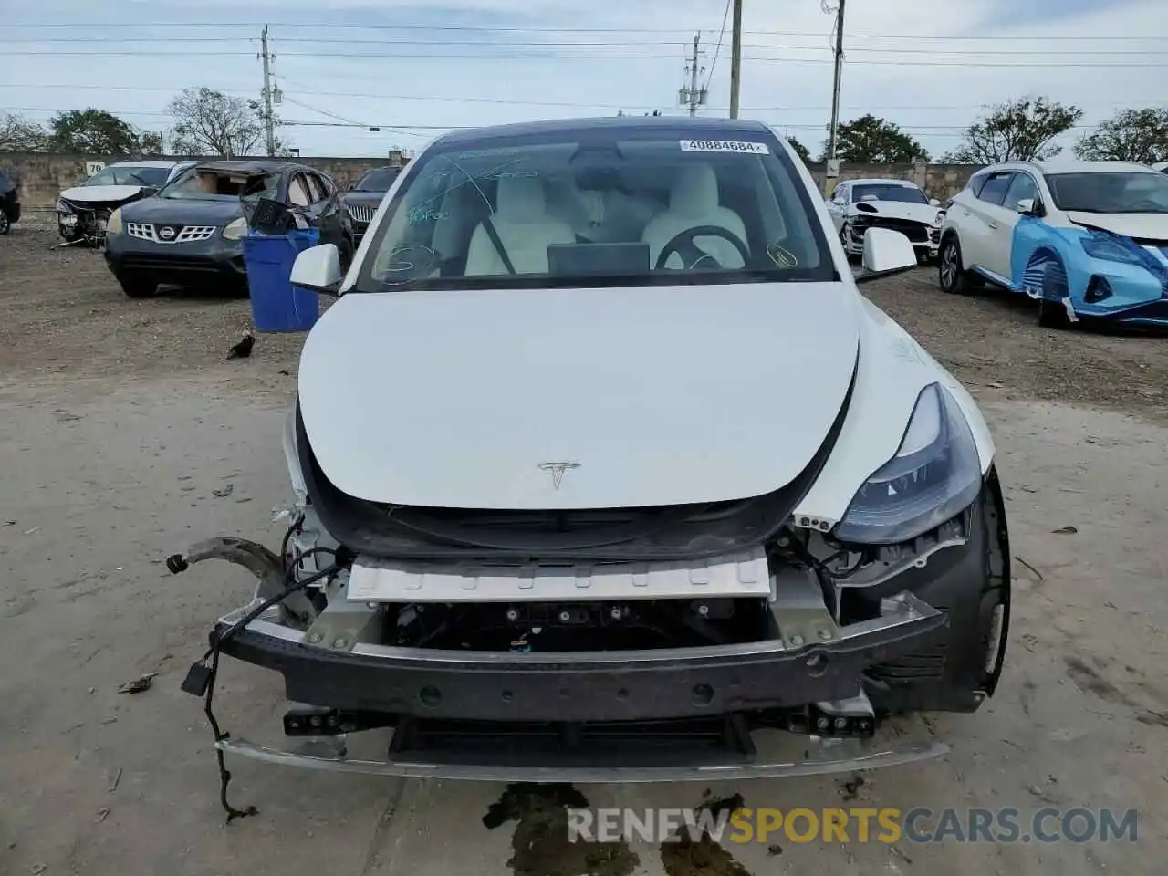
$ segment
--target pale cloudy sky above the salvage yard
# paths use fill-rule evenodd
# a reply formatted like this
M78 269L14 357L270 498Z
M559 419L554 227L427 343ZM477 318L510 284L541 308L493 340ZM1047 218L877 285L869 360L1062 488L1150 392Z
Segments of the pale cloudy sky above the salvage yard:
M744 0L741 112L819 154L836 0ZM1163 0L848 0L841 120L899 124L938 158L993 103L1042 95L1090 132L1168 106ZM187 86L256 98L259 35L303 155L380 157L443 130L540 118L683 114L700 34L698 112L726 116L726 0L0 0L0 113L96 106L165 131ZM725 30L723 34L723 21ZM721 36L721 46L719 46ZM312 123L312 124L303 124ZM370 132L369 126L380 126Z

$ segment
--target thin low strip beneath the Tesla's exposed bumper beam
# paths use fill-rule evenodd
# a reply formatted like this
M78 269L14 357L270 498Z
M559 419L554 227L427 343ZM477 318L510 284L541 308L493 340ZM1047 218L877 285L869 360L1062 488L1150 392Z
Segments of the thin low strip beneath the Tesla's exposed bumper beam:
M783 731L766 731L776 738ZM760 734L756 734L758 738ZM806 739L798 739L806 749ZM805 752L802 760L766 760L765 763L731 763L702 766L492 766L479 764L426 764L417 760L388 759L360 760L345 756L315 757L256 745L243 739L223 739L216 746L227 755L281 766L310 770L361 773L366 776L395 776L410 779L451 779L463 781L531 781L573 784L632 784L659 781L741 781L743 779L786 779L800 776L829 776L833 773L877 770L927 760L948 752L948 746L933 741L896 748L860 739L834 739L832 745L820 745ZM764 745L764 749L769 748ZM764 752L759 752L764 757Z

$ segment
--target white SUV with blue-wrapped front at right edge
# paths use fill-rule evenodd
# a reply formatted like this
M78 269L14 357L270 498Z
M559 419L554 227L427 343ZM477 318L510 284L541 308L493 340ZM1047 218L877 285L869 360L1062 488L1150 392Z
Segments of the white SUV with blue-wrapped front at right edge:
M1168 327L1168 175L1127 161L1017 161L979 171L941 225L940 285L1038 301L1043 326Z

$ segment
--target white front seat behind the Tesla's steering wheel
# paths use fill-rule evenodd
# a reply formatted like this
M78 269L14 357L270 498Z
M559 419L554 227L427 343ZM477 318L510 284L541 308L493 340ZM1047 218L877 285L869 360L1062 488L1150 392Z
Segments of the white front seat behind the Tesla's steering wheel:
M649 245L649 264L656 266L661 250L676 235L697 225L717 225L748 244L746 228L734 210L718 202L718 179L708 164L695 164L681 168L669 193L669 209L654 216L641 239ZM695 237L695 245L718 260L723 267L742 267L738 249L721 237ZM693 267L683 263L674 252L666 260L666 267Z

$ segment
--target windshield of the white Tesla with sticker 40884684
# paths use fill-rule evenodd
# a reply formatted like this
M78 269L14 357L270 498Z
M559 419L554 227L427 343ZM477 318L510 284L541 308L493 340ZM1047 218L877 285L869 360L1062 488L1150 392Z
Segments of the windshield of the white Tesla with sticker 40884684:
M427 150L355 291L830 280L808 193L770 133L564 128Z

